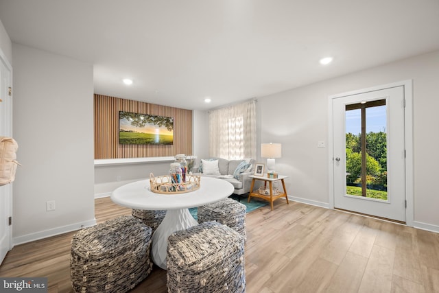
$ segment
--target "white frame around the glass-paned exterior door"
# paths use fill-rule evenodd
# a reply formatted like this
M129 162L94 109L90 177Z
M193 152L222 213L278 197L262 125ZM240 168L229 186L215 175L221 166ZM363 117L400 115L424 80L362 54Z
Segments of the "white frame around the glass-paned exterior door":
M404 87L404 121L405 121L405 223L407 226L414 224L414 177L413 177L413 80L403 80L391 84L372 86L366 89L348 91L336 95L329 95L328 99L328 174L329 174L329 208L334 209L334 141L333 141L333 99L347 95L358 95L370 91L390 89L396 86Z

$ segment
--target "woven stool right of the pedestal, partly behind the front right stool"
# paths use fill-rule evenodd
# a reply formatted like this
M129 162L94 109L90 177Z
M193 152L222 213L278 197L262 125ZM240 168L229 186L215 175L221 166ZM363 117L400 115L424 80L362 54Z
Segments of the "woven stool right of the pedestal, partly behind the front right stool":
M233 228L247 239L246 235L246 205L232 198L226 198L213 204L198 207L198 223L217 221Z

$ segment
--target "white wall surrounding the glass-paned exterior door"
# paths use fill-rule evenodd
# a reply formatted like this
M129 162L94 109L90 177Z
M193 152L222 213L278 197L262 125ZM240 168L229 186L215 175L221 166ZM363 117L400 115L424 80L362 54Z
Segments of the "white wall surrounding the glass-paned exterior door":
M439 51L258 98L261 143L282 143L276 169L289 176L285 181L289 195L329 206L329 155L327 148L317 148L318 141L328 141L329 95L410 79L414 86L414 225L439 232Z

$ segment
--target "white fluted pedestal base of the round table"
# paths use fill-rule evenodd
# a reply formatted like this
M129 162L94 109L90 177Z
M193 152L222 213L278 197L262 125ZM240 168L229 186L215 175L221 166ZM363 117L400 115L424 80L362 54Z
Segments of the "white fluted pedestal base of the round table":
M154 263L166 270L167 238L175 231L198 225L189 209L170 209L152 235L151 258Z

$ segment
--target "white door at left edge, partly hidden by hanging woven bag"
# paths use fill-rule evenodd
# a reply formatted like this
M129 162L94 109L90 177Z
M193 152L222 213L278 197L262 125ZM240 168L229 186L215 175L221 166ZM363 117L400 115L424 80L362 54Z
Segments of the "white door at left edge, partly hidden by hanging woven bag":
M0 51L1 53L1 51ZM11 70L8 63L0 54L0 136L12 137L12 99L9 95ZM0 263L6 253L12 249L12 226L9 218L12 216L12 185L0 186Z

